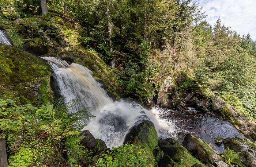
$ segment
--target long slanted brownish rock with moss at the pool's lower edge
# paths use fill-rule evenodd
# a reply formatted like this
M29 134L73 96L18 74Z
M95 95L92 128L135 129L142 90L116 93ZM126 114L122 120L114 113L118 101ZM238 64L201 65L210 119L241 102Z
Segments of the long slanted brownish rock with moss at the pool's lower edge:
M207 143L191 134L185 136L182 145L187 148L192 155L205 164L213 164L214 162L222 160L222 158L217 155Z

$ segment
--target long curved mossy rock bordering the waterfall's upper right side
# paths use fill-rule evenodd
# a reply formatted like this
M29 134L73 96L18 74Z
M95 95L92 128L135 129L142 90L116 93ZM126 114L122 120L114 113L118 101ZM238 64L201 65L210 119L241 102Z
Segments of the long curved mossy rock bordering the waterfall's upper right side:
M85 50L81 47L65 48L58 53L48 53L44 56L58 56L69 62L75 62L87 67L93 72L93 76L105 86L108 93L117 99L121 96L120 84L114 77L112 69L102 61L95 53Z

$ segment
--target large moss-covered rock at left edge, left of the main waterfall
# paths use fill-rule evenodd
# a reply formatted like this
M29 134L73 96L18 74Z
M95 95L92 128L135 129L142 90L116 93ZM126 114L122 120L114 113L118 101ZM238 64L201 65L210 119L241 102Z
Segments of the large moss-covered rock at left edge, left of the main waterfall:
M0 44L0 96L22 104L53 101L50 87L52 70L41 58L16 47ZM42 95L41 95L42 94Z

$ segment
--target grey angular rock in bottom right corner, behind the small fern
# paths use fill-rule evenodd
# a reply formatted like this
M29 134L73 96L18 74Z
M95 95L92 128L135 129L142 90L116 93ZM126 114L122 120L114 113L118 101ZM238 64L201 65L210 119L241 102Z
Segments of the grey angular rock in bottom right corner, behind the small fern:
M256 166L256 144L250 141L246 141L241 138L226 138L223 141L225 148L229 147L234 152L240 152L238 155L242 162L247 167L255 167Z

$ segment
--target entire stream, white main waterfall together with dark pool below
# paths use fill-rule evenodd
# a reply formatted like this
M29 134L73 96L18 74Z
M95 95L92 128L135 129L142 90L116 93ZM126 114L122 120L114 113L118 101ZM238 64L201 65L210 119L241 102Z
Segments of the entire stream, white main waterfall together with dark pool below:
M87 123L86 129L95 138L105 141L110 148L123 144L129 128L143 120L151 120L154 123L159 138L172 137L182 142L184 133L192 133L196 137L212 143L215 150L219 152L222 152L223 148L214 144L214 137L243 137L227 121L202 114L193 108L189 109L187 113L182 113L157 106L144 109L135 101L113 101L86 67L76 63L69 65L55 57L42 58L50 62L60 94L66 97L65 102L84 98L79 108L91 107L88 110L96 117Z

